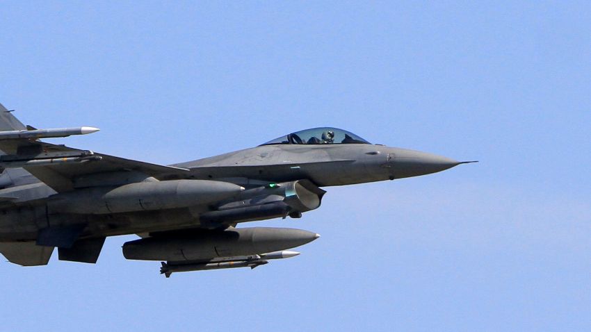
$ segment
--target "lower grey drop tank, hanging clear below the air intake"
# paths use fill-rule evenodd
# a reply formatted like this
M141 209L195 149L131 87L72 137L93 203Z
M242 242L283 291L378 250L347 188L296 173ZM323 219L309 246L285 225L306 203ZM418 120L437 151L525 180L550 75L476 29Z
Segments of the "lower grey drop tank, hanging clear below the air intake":
M209 261L213 258L252 256L291 249L319 237L316 233L301 229L275 227L186 231L174 237L156 236L126 242L123 245L123 256L133 260L193 263L195 260ZM264 255L261 258L273 259Z

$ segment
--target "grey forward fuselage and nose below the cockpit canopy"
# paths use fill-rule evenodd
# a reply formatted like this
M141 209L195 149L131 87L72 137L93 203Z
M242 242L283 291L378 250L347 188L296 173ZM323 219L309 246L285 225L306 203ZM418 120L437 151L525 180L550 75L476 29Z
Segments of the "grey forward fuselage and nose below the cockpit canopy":
M455 160L380 144L277 144L180 163L195 179L309 179L319 187L402 179L451 168Z

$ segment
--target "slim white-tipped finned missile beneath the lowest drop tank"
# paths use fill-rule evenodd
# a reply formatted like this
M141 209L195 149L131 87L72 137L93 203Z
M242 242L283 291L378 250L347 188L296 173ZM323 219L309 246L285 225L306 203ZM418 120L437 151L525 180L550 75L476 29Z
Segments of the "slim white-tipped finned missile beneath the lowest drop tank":
M164 274L166 278L175 272L191 272L191 271L206 271L210 269L234 269L236 267L254 267L268 264L268 260L282 259L298 256L297 251L275 251L268 254L259 254L252 256L237 256L227 258L214 258L205 263L164 263L160 268L160 273Z

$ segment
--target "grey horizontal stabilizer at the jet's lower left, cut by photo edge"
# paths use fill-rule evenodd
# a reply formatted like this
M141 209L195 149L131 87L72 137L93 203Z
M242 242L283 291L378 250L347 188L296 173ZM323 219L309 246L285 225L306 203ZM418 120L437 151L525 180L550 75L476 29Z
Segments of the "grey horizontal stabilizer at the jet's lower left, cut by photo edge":
M47 265L54 247L41 247L35 242L0 242L0 252L10 263L37 266Z

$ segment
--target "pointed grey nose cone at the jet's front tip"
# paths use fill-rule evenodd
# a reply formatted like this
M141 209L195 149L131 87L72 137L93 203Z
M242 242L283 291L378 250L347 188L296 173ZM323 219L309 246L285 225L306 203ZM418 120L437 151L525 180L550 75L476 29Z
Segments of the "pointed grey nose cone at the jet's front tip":
M460 165L458 160L421 151L394 149L396 179L441 172Z

